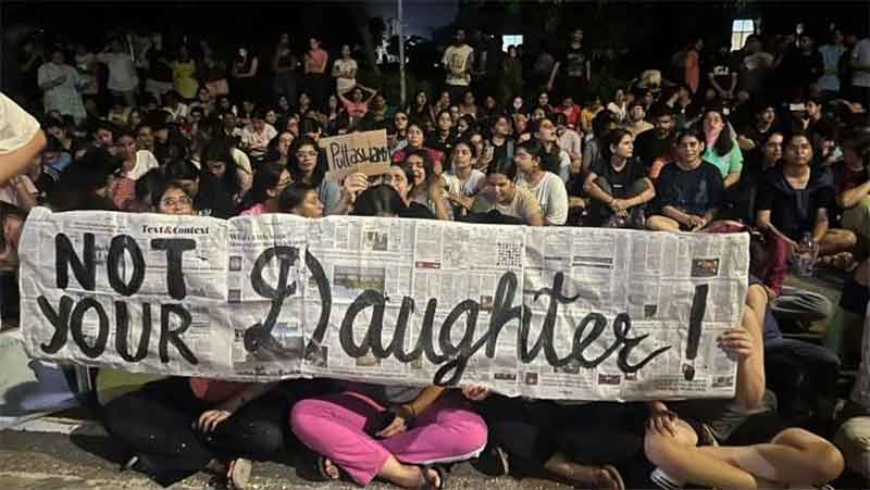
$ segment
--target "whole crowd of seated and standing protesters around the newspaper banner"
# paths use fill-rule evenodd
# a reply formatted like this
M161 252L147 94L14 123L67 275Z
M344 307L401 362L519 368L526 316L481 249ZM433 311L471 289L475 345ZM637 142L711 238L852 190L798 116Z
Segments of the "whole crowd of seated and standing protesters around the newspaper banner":
M672 66L638 66L601 93L580 29L533 63L510 47L495 66L458 29L442 89L407 104L358 81L352 47L330 52L316 37L295 52L282 34L274 52L239 48L228 60L159 33L112 38L99 53L26 42L21 70L44 110L38 123L16 118L5 99L0 125L47 137L0 186L0 265L14 272L36 205L749 233L745 311L719 339L737 360L734 400L584 404L481 386L170 378L103 400L103 419L133 454L126 466L164 483L207 468L244 487L248 457L286 447L318 476L363 486L440 488L445 466L468 458L493 475L612 489L822 486L845 466L870 477L870 372L845 409L836 392L841 369L868 350L870 38L826 37L817 47L806 33L753 35L709 55L692 39ZM374 129L386 130L389 172L327 178L321 138ZM14 150L0 136L0 152ZM819 271L845 278L838 304L784 284ZM14 285L3 288L13 315ZM819 321L822 344L781 330Z

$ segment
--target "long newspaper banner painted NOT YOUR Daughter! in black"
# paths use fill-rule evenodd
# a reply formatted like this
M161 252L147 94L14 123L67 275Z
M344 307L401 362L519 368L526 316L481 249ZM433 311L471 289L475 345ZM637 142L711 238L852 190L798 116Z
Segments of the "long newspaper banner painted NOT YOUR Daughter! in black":
M733 397L747 235L286 214L30 213L34 357L129 372Z

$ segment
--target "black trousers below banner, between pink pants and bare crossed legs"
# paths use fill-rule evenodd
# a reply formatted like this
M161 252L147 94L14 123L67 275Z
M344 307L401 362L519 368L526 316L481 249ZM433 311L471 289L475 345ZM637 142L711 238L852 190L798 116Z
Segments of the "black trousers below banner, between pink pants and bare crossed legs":
M643 455L643 404L596 402L559 405L549 400L490 395L482 411L489 443L508 453L520 475L542 472L561 452L580 464L617 466Z

